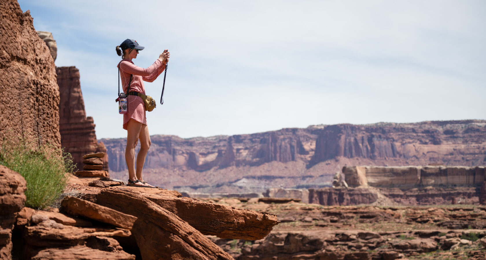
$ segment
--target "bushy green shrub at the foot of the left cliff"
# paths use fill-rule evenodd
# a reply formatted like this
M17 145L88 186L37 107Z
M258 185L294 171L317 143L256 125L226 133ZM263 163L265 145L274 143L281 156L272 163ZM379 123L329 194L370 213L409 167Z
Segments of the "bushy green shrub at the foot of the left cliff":
M51 145L35 147L32 144L20 141L13 145L5 141L0 147L0 164L18 172L27 181L25 206L42 209L61 195L67 183L66 173L72 172L75 166L69 153Z

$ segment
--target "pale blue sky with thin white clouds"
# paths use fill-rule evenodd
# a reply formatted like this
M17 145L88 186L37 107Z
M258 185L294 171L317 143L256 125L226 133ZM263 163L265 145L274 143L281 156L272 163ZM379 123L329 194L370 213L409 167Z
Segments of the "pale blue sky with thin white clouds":
M101 138L126 137L115 47L171 58L149 132L183 138L339 123L486 119L484 0L19 0L76 66ZM160 99L163 74L145 82Z

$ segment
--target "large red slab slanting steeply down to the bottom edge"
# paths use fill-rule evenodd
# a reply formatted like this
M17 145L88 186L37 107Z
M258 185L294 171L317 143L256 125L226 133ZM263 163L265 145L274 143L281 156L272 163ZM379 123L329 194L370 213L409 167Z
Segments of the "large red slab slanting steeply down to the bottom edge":
M104 190L98 203L138 217L132 233L144 260L224 260L232 257L206 236L156 203L136 192ZM192 211L197 209L192 208ZM184 212L178 212L184 215ZM199 217L204 212L198 212ZM209 222L207 222L208 224Z

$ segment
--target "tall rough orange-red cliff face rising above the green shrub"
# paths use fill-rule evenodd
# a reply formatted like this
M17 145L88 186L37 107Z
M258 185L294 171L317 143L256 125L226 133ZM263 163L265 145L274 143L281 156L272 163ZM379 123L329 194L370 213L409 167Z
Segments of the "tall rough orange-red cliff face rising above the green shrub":
M54 60L37 36L30 12L16 0L0 5L0 145L20 138L61 148L59 89Z

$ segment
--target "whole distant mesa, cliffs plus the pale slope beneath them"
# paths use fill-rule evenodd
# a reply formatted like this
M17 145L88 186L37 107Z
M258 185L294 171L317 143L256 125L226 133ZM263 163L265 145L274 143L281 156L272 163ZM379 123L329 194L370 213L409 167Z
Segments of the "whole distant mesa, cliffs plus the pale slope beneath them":
M330 186L333 173L346 165L480 166L486 157L486 121L340 124L208 138L155 135L151 140L144 166L157 175L147 175L151 183L187 193L236 193L232 189L248 194L271 187ZM102 141L115 178L121 178L125 139ZM378 174L374 181L381 182ZM413 186L413 180L403 181Z

